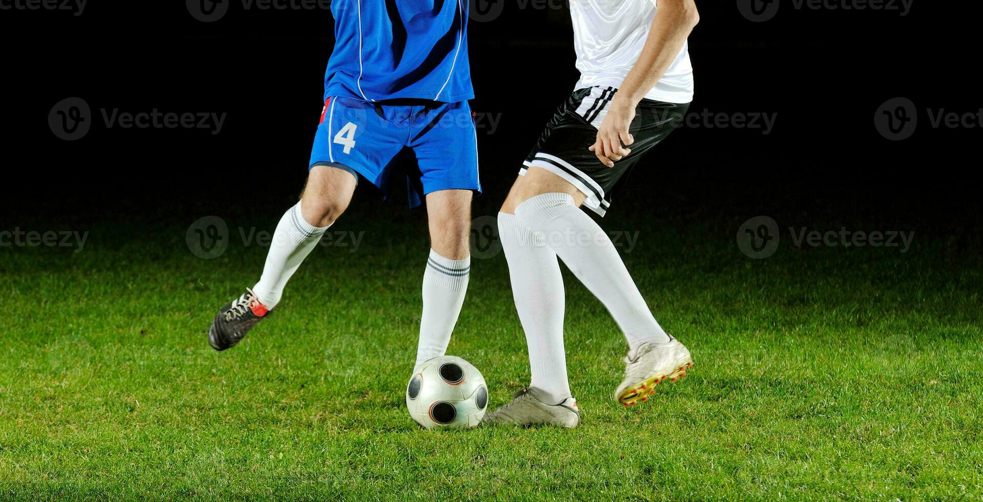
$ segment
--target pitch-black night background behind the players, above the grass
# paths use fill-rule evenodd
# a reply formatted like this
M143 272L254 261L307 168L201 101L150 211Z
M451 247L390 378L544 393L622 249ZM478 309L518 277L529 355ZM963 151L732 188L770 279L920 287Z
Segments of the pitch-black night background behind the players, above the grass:
M476 214L492 214L577 80L565 5L499 1L501 16L473 21L469 31L472 107L500 114L494 134L479 131L485 195ZM707 127L674 133L615 195L614 212L619 201L654 217L685 203L735 221L818 210L834 222L875 215L876 225L878 218L912 226L957 220L976 228L981 130L934 129L925 114L975 113L983 104L975 12L927 0L914 0L907 16L782 1L775 19L752 23L732 0L698 7L691 111L777 114L775 128L767 135ZM145 207L192 218L214 212L212 205L300 192L333 40L328 11L244 10L236 0L223 19L202 23L181 1L90 0L81 16L15 9L0 11L0 19L2 226L34 213L111 219ZM84 139L65 141L47 119L72 96L87 101L96 123ZM903 141L883 138L874 125L878 107L897 96L920 114L917 131ZM115 108L227 119L215 136L107 130L96 110ZM405 211L362 185L356 204Z

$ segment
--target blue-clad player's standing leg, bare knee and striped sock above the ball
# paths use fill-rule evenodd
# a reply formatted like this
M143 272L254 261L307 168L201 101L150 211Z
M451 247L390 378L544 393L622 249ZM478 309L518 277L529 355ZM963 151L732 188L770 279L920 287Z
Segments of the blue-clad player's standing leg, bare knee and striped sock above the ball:
M471 271L470 190L442 190L427 195L431 251L423 283L423 314L415 367L443 356L464 304Z

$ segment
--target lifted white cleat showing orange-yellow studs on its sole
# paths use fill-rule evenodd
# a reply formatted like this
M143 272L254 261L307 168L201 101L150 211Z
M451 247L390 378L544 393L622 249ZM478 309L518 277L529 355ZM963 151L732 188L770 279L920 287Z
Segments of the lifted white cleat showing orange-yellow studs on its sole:
M646 402L655 394L656 385L665 379L677 381L693 367L693 357L678 340L669 336L662 344L645 343L624 359L624 380L614 391L614 399L624 406Z

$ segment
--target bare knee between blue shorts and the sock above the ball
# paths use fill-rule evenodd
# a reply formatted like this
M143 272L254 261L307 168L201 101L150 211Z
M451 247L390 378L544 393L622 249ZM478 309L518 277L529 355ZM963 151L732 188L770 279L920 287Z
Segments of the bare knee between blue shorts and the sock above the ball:
M427 194L431 246L441 256L462 259L468 255L472 198L472 191L462 189Z

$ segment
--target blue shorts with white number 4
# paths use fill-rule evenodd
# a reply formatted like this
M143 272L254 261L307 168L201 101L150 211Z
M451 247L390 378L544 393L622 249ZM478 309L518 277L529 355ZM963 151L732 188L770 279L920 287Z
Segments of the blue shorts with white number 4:
M416 165L397 173L393 159L404 148L412 151ZM354 171L386 195L393 182L405 178L410 207L432 192L482 190L478 138L467 101L372 102L330 96L324 101L308 169L316 165Z

